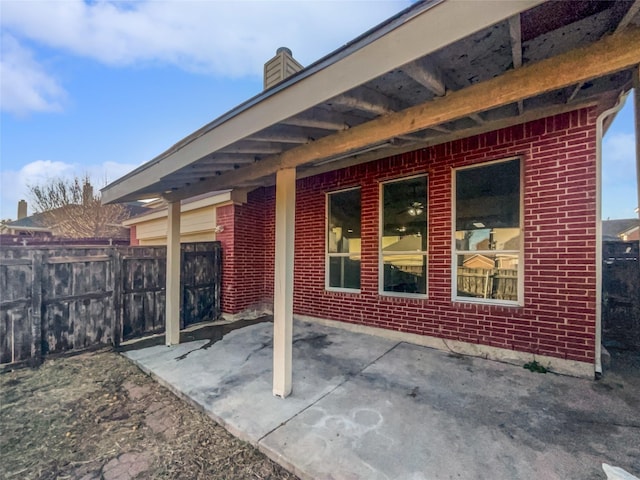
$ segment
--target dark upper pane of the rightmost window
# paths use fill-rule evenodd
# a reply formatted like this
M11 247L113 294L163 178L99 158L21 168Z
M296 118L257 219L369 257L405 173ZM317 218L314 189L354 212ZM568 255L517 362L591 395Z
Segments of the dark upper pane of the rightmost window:
M456 231L520 226L520 160L456 172Z

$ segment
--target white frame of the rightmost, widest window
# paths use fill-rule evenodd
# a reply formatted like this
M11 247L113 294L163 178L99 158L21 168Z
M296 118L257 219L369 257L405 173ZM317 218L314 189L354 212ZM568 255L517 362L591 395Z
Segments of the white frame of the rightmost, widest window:
M517 253L518 255L518 278L517 278L517 300L501 300L493 298L477 298L477 297L461 297L458 296L458 255L463 255L456 248L456 220L457 220L457 173L462 170L471 170L474 168L482 168L490 165L496 165L499 163L506 163L510 161L518 160L520 163L520 195L519 195L519 229L520 229L520 242L519 250L473 250L461 252L477 253L482 255L496 254L496 253ZM498 160L491 160L488 162L476 163L473 165L465 165L463 167L457 167L451 169L451 301L454 303L473 303L484 305L497 305L506 307L523 307L524 306L524 187L525 187L525 162L524 158L520 155L513 157L501 158Z

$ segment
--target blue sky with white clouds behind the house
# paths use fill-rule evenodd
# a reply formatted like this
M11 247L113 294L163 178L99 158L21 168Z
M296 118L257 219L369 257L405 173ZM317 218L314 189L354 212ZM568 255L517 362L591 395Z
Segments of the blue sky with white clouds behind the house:
M0 0L0 218L28 185L103 186L259 93L276 48L308 65L409 3ZM637 206L631 104L605 137L604 218Z

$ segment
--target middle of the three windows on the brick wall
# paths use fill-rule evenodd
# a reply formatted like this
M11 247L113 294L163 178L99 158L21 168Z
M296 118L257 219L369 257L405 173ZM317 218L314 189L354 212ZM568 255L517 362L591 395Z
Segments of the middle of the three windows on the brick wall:
M381 185L380 293L427 294L427 177Z

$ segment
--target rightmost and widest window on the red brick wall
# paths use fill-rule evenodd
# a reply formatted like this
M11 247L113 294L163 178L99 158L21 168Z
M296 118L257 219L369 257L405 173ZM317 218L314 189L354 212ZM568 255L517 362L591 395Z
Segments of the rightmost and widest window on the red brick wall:
M454 172L454 299L522 301L519 158Z

